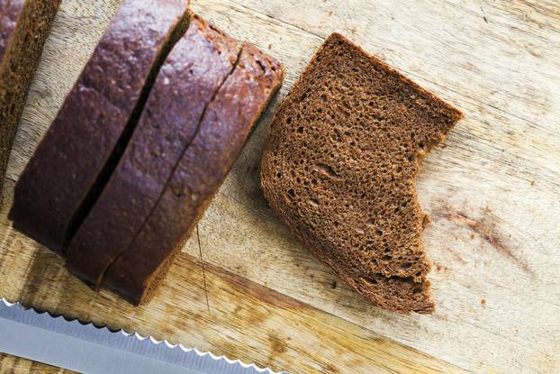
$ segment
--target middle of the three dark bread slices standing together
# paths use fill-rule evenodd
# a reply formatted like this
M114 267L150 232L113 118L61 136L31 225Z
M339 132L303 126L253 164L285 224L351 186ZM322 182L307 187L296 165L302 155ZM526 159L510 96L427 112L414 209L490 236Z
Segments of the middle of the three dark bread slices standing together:
M131 243L238 58L237 41L194 16L159 70L111 179L70 242L70 272L98 287Z

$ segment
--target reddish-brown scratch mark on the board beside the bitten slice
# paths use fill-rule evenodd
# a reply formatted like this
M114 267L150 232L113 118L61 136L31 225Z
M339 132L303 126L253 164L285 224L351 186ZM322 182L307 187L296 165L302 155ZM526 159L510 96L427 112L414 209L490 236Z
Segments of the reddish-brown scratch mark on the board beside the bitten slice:
M486 206L483 210L484 214L489 213L489 208ZM460 226L467 227L473 233L478 233L485 242L488 242L492 245L493 248L500 251L503 255L508 257L510 260L513 260L519 268L523 269L530 275L534 275L533 270L528 267L528 264L520 260L519 257L511 251L510 247L506 246L501 239L501 235L496 232L495 229L492 229L490 223L486 223L484 218L480 218L475 220L469 217L467 214L463 212L459 212L454 210L453 208L444 205L442 211L434 212L435 215L439 215L447 220L456 223Z

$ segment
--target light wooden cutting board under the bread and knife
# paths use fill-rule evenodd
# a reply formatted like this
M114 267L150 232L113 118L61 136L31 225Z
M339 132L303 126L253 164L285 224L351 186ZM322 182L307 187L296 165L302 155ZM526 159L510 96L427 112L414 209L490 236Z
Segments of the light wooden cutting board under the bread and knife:
M281 59L287 75L198 235L140 308L95 294L6 219L15 180L117 3L63 0L6 177L0 296L294 373L560 372L556 1L193 0L196 13ZM271 114L333 31L465 112L418 181L432 218L434 315L369 305L294 241L260 191ZM47 371L0 361L18 368Z

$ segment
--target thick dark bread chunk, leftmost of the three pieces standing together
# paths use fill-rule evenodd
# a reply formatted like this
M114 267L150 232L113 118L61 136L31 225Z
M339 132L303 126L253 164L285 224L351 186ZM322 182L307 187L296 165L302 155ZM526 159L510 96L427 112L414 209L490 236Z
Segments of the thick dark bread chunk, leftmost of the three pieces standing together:
M122 3L15 187L16 230L64 252L184 32L187 11L188 0Z

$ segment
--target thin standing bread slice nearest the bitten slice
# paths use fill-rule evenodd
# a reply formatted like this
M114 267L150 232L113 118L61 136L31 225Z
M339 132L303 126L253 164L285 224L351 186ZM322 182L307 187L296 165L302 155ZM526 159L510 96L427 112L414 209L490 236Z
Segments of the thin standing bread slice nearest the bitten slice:
M105 287L134 305L149 301L283 78L278 61L243 44L237 67L208 105L148 221L109 268Z

